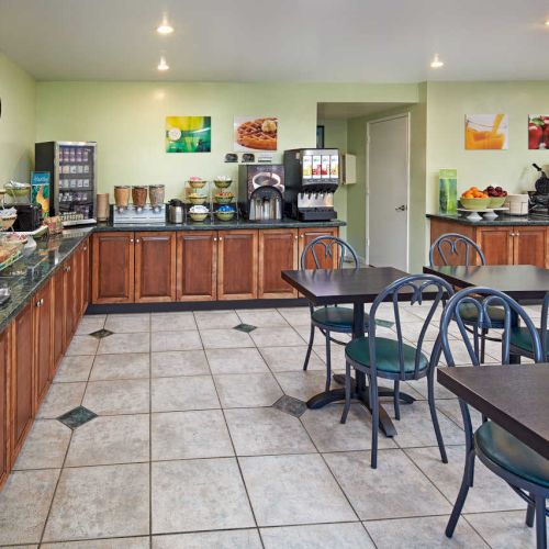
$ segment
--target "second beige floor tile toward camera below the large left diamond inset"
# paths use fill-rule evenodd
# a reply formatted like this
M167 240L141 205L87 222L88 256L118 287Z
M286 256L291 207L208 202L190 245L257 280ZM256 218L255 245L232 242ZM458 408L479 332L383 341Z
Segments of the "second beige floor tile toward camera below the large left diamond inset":
M44 540L148 534L148 468L132 463L65 469Z

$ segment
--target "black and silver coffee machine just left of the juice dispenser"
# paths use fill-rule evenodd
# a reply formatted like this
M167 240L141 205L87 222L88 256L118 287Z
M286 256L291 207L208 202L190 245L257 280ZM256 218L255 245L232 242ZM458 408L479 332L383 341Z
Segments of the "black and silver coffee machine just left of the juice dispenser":
M249 221L281 221L284 167L246 164L238 167L238 208Z

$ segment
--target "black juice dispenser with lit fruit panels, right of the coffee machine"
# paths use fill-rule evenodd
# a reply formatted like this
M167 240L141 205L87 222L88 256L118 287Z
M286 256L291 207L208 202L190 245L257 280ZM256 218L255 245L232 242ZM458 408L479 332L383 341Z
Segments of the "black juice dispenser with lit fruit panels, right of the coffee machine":
M334 192L339 186L337 148L296 148L284 152L284 213L300 221L337 219Z

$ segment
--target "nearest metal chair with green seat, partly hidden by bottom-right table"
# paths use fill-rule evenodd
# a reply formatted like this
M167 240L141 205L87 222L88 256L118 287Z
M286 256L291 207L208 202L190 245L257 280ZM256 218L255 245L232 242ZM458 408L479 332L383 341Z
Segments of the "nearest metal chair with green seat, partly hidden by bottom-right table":
M479 298L482 296L482 299ZM448 340L448 325L455 321L473 367L480 365L478 348L471 345L467 335L464 321L461 317L461 305L471 304L477 309L480 324L490 326L489 307L496 304L504 312L502 336L502 363L509 362L512 315L518 316L525 324L527 336L531 340L531 350L536 362L542 361L541 343L534 323L523 307L508 295L489 288L467 288L457 292L448 302L440 321L440 334L437 345L442 350L446 362L453 367L451 349ZM502 376L505 376L502 366ZM536 536L538 549L547 547L546 500L549 497L549 460L528 448L508 432L491 421L484 419L473 434L469 407L460 399L459 405L466 430L466 467L453 511L446 527L446 536L451 538L459 516L466 503L469 488L473 485L474 458L478 457L492 472L505 480L511 488L528 504L526 524L534 526L536 517Z

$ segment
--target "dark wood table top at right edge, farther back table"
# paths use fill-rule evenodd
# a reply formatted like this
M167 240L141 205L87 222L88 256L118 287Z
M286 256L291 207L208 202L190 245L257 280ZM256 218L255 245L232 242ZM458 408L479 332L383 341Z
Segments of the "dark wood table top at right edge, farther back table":
M484 285L505 292L516 300L544 299L549 292L549 269L533 265L424 267L423 271L437 274L459 288Z

